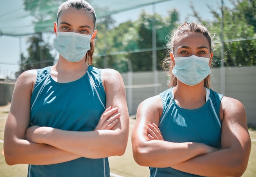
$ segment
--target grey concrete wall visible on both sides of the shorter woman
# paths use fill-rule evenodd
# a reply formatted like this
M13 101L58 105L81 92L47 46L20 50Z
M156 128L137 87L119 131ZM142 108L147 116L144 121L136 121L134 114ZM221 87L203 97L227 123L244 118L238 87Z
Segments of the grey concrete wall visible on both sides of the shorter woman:
M246 109L248 125L256 126L256 67L225 68L224 71L225 83L222 94L242 102ZM162 71L155 75L153 72L121 73L121 75L126 85L130 115L136 114L140 102L167 89L167 77ZM211 88L218 93L221 93L220 75L221 69L212 69Z

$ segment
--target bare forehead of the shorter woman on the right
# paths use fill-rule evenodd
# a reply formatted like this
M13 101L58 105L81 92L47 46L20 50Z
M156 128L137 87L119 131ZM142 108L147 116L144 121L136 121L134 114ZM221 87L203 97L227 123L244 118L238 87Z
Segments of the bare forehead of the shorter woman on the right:
M198 46L207 46L210 49L209 41L205 35L198 32L187 33L178 36L174 42L174 50L180 46L189 46L190 48Z

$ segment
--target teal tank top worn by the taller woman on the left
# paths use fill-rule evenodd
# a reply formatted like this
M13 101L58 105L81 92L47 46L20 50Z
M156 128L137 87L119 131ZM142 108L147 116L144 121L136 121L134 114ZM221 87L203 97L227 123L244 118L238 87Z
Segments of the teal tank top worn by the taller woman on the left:
M89 66L80 79L58 83L51 66L38 69L31 95L30 124L67 131L93 131L106 106L101 69ZM88 144L90 146L90 144ZM81 157L53 165L29 165L28 177L110 177L108 158Z

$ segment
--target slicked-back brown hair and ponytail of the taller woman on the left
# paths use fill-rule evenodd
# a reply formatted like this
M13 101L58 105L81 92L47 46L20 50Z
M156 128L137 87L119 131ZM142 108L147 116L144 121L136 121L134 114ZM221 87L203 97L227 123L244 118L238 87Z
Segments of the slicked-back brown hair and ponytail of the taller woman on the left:
M88 11L92 14L93 17L93 22L94 22L94 29L95 29L95 24L96 24L96 14L93 9L93 7L85 0L67 0L63 2L59 8L58 8L58 13L57 13L57 23L58 23L58 18L61 15L61 13L69 8L75 8L77 10L83 9L85 11ZM90 65L92 64L93 61L93 52L94 52L94 46L95 42L94 40L90 42L90 50L85 54L85 62L89 63Z

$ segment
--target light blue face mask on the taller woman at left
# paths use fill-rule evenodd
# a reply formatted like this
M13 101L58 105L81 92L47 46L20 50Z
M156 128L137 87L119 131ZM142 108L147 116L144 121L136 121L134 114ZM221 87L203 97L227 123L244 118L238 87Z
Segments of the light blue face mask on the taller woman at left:
M54 48L69 62L81 61L90 50L91 35L57 32Z

